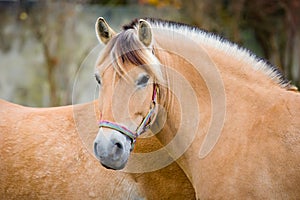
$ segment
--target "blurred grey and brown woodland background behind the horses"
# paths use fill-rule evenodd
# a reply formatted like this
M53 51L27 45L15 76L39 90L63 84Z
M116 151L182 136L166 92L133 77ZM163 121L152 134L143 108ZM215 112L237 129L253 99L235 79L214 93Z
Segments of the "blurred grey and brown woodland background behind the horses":
M80 72L91 83L78 87L77 102L92 100L85 91L96 87L95 60L82 63L97 55L90 52L99 16L115 30L145 16L198 26L268 59L299 87L299 11L300 0L0 0L0 98L34 107L71 104Z

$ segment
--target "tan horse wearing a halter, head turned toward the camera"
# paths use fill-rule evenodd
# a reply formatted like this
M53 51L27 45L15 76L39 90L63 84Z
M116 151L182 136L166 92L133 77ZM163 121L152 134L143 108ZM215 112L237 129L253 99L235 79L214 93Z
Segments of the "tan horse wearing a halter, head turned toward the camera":
M181 23L136 19L116 33L100 17L95 29L104 167L176 162L197 199L300 198L300 94L275 66ZM161 149L140 145L152 137Z

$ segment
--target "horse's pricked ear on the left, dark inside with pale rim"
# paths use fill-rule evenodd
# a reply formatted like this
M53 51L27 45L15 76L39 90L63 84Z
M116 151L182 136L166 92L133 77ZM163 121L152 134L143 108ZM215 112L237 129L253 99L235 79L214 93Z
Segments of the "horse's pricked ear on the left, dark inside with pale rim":
M115 31L109 27L103 17L99 17L95 24L95 31L100 42L107 44L109 40L116 34Z

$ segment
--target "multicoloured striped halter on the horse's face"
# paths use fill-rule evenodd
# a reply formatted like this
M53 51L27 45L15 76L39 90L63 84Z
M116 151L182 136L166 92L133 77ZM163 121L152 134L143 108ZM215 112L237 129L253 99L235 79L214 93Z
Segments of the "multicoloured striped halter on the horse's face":
M116 130L120 133L122 133L123 135L128 136L131 139L131 151L134 148L135 142L136 142L136 138L138 136L140 136L142 133L146 132L149 127L151 126L151 122L153 122L153 118L154 118L154 114L155 111L157 109L157 94L159 92L159 88L157 87L156 84L153 84L153 95L152 95L152 103L150 105L150 110L148 111L146 117L143 119L143 121L140 123L140 125L138 126L138 128L133 132L131 130L129 130L128 128L126 128L125 126L122 126L120 124L114 123L114 122L110 122L107 120L101 120L99 122L99 128L103 127L103 128L110 128L113 130Z

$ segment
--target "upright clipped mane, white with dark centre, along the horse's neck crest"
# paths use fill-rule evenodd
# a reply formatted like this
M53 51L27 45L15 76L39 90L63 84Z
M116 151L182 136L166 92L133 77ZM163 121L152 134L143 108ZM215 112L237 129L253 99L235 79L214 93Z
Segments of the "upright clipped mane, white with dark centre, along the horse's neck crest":
M189 35L192 39L199 42L200 44L206 44L221 50L230 56L236 56L239 59L246 61L256 70L266 74L271 80L275 81L282 88L292 88L283 73L275 65L271 64L264 58L255 55L252 51L239 46L217 34L208 32L195 26L189 26L184 23L178 23L173 21L145 18L152 27L162 28L171 32L177 32L184 35ZM135 19L127 25L123 26L123 32L128 30L137 29L138 20ZM238 56L237 56L238 55Z

